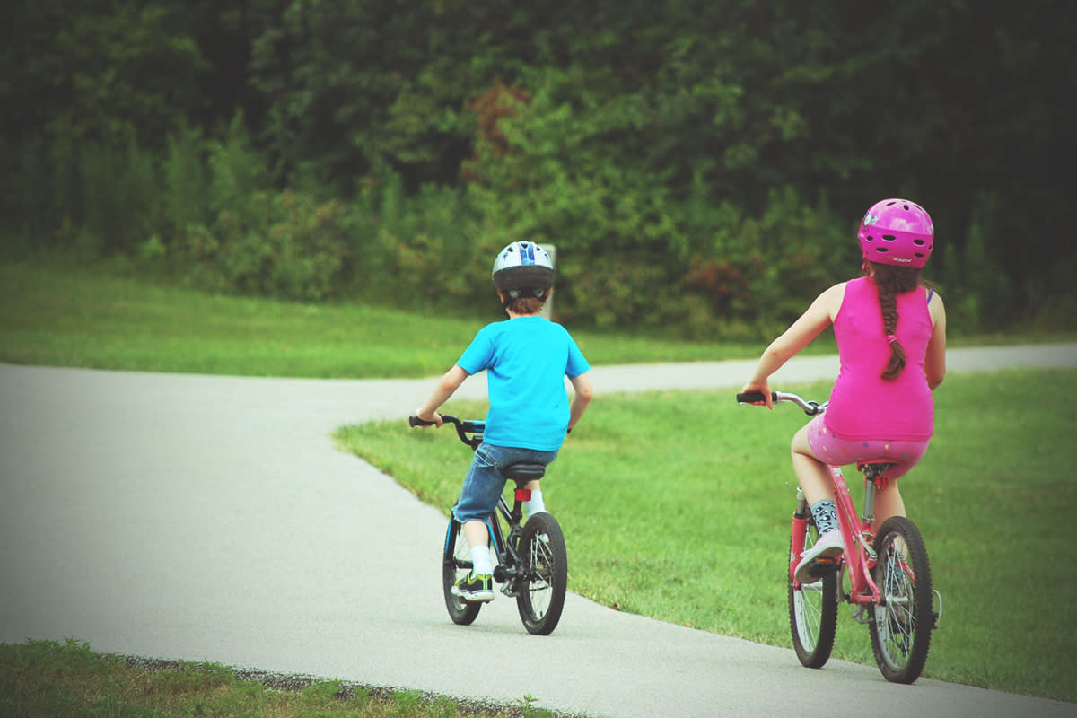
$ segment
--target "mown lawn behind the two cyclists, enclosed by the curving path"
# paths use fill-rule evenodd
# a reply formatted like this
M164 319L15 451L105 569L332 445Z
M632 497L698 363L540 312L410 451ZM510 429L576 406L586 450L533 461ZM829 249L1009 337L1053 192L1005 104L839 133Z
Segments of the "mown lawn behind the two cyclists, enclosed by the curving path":
M829 383L783 389L822 398ZM788 440L806 419L792 406L739 407L733 396L598 397L544 480L546 505L565 531L572 591L792 646ZM926 676L1077 701L1074 399L1075 370L951 376L937 392L931 450L901 481L945 601ZM463 402L446 410L485 413ZM446 512L470 461L449 431L400 422L344 427L337 439ZM859 502L859 475L845 475ZM868 632L850 610L842 608L834 654L875 665Z

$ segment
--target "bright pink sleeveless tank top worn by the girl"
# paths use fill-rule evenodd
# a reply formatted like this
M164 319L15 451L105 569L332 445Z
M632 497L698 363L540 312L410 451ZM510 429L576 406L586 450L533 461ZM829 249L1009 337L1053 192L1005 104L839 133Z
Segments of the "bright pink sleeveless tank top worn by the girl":
M928 439L935 430L935 407L924 374L932 316L927 292L918 286L897 295L895 335L905 348L906 364L897 379L880 376L890 361L890 342L882 327L875 282L862 277L845 284L841 309L834 320L841 370L824 414L826 426L845 439Z

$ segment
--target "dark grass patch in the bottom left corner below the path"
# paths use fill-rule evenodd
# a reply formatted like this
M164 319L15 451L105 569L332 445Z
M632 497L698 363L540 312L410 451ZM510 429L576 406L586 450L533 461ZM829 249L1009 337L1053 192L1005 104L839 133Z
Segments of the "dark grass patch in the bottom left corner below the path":
M449 701L303 676L246 677L216 663L103 656L88 644L0 644L0 716L19 718L556 718L515 705Z

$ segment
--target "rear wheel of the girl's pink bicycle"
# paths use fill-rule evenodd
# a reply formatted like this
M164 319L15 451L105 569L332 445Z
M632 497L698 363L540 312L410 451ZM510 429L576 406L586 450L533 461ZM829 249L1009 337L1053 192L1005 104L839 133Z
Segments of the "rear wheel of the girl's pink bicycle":
M886 680L911 684L927 663L935 629L927 549L920 530L901 516L886 519L875 549L875 581L883 602L871 606L871 648Z

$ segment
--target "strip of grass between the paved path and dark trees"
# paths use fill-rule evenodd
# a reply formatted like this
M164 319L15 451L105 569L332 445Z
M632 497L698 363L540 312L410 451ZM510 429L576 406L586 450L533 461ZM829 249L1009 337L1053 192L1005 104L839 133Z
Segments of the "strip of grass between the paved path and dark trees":
M363 305L298 304L209 295L57 261L0 263L0 362L134 371L257 377L430 377L449 368L475 333L501 316L452 308L416 314ZM443 310L444 311L440 311ZM577 332L595 366L754 358L758 343L673 341L634 333ZM953 346L1075 339L1023 334ZM807 353L834 353L821 338Z

